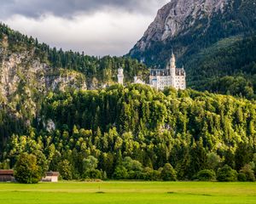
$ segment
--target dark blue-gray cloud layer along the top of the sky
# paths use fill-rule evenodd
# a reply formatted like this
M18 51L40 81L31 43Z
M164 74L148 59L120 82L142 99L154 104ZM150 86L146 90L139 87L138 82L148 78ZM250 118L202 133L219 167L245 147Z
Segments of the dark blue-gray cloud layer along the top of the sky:
M13 14L38 18L44 14L73 17L104 8L119 8L126 12L150 14L162 0L1 0L0 18Z

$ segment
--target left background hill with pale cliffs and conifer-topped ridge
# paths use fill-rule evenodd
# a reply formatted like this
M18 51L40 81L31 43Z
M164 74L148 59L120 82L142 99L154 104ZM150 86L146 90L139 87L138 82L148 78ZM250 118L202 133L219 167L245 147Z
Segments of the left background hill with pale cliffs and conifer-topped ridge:
M47 94L113 84L120 66L127 82L147 73L135 59L64 52L0 24L0 149L27 132Z

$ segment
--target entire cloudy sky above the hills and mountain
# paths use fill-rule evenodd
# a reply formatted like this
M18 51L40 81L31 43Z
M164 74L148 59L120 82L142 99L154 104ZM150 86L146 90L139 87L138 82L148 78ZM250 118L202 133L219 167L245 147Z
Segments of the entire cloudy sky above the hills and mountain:
M0 21L39 42L90 55L123 55L170 0L1 0Z

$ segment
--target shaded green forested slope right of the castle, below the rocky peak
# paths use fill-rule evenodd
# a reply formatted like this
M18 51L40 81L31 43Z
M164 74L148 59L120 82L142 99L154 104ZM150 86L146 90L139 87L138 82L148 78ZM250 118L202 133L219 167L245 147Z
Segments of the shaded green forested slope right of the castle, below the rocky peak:
M187 65L191 88L256 99L256 35L224 39Z

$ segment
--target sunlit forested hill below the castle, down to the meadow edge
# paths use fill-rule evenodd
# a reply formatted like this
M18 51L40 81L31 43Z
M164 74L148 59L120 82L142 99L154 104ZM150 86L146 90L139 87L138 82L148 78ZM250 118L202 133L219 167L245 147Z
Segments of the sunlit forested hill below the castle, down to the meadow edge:
M246 99L115 85L50 93L37 118L10 139L2 166L28 152L64 179L254 180L256 105Z

